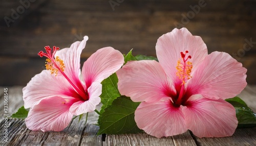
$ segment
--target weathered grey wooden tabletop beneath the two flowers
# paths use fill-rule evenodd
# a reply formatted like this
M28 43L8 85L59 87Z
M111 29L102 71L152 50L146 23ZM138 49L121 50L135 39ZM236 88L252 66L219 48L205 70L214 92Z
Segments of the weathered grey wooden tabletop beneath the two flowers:
M3 89L1 87L0 103L4 103ZM11 115L24 104L22 87L9 87L8 93L8 112ZM239 96L256 112L256 86L247 86ZM0 105L0 114L4 114L3 104ZM1 116L0 145L256 145L256 128L237 129L233 136L222 138L198 138L189 131L160 139L145 133L97 136L99 127L94 125L97 123L95 112L89 113L86 125L84 118L79 123L75 119L61 132L31 131L26 128L24 120L8 119L9 142L5 142L2 136L4 122Z

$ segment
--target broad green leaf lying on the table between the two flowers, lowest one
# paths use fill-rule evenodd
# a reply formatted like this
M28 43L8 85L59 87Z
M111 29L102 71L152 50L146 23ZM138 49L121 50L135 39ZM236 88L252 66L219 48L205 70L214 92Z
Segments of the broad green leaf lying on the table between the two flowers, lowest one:
M99 116L98 135L143 132L137 127L134 120L134 112L139 104L125 96L114 100L112 105L106 107L102 115Z

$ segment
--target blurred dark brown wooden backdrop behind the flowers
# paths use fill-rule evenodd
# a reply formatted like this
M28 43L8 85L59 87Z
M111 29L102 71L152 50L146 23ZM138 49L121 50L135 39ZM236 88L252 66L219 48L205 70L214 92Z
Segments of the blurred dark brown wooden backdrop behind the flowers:
M157 39L186 27L208 53L223 51L248 69L256 84L256 1L0 0L0 86L26 85L45 69L37 53L89 36L81 57L112 46L126 54L156 56Z

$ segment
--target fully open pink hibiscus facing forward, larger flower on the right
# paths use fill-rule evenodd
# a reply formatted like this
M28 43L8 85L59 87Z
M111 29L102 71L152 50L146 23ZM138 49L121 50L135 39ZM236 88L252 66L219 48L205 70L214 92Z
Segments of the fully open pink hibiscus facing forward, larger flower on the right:
M137 126L156 136L191 130L198 137L231 136L236 111L224 99L246 86L246 69L223 52L207 54L202 38L182 28L162 35L156 44L159 62L130 61L117 71L118 89L141 102Z

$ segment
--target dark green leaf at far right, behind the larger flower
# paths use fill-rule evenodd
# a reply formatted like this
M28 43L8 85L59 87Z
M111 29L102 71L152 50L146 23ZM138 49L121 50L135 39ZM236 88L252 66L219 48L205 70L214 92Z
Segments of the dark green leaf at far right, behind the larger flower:
M235 109L238 118L238 128L256 126L256 114L239 97L226 99Z

